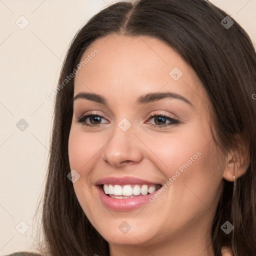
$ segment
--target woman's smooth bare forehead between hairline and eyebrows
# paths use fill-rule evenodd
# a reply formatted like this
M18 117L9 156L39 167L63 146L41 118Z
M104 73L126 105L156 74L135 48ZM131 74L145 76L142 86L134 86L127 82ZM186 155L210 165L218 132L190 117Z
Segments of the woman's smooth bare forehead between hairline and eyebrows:
M80 63L74 95L86 91L135 101L143 93L170 91L197 107L207 100L193 69L173 48L153 37L111 34L99 38Z

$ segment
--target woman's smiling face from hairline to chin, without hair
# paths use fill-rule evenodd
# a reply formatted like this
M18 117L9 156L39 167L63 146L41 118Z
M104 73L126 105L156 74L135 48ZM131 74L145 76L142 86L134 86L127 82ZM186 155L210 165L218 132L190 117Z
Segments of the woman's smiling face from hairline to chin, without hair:
M84 213L109 245L149 248L186 240L196 249L210 237L223 165L195 72L167 44L148 36L97 39L85 58L75 75L79 96L68 141ZM77 121L87 114L94 117ZM110 197L103 184L117 196L135 195ZM154 184L161 188L152 192ZM150 194L142 195L150 186Z

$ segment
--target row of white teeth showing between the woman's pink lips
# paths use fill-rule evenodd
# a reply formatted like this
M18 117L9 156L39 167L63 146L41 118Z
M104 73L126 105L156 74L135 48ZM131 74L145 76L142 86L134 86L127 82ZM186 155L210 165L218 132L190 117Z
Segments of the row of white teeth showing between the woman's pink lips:
M153 193L161 186L161 184L102 184L101 188L107 196L123 199L144 196Z

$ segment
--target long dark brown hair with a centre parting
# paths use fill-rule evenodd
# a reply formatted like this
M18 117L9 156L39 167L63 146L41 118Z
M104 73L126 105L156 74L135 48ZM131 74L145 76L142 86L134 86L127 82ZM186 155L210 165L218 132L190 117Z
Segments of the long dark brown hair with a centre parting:
M59 84L73 72L86 48L102 36L148 35L174 48L195 70L209 96L214 140L221 151L242 145L247 148L244 152L250 157L249 167L235 186L224 180L211 234L216 256L221 255L223 245L230 246L235 256L248 256L256 255L256 54L248 34L230 15L234 23L224 25L226 16L206 0L114 3L77 32L66 54ZM87 219L67 178L73 87L70 79L58 87L55 96L42 210L42 253L106 256L108 243ZM228 235L220 228L227 220L234 225Z

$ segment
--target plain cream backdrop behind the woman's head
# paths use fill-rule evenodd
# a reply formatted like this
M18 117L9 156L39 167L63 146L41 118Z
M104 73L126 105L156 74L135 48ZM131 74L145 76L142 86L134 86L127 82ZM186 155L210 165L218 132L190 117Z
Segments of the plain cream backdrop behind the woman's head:
M112 2L0 0L0 255L30 250L37 243L33 216L45 181L54 102L46 94L57 86L64 55L78 28ZM256 0L211 2L256 42ZM21 29L25 22L29 24ZM21 118L28 123L23 131L16 127ZM24 234L20 232L26 224L20 221L29 227Z

